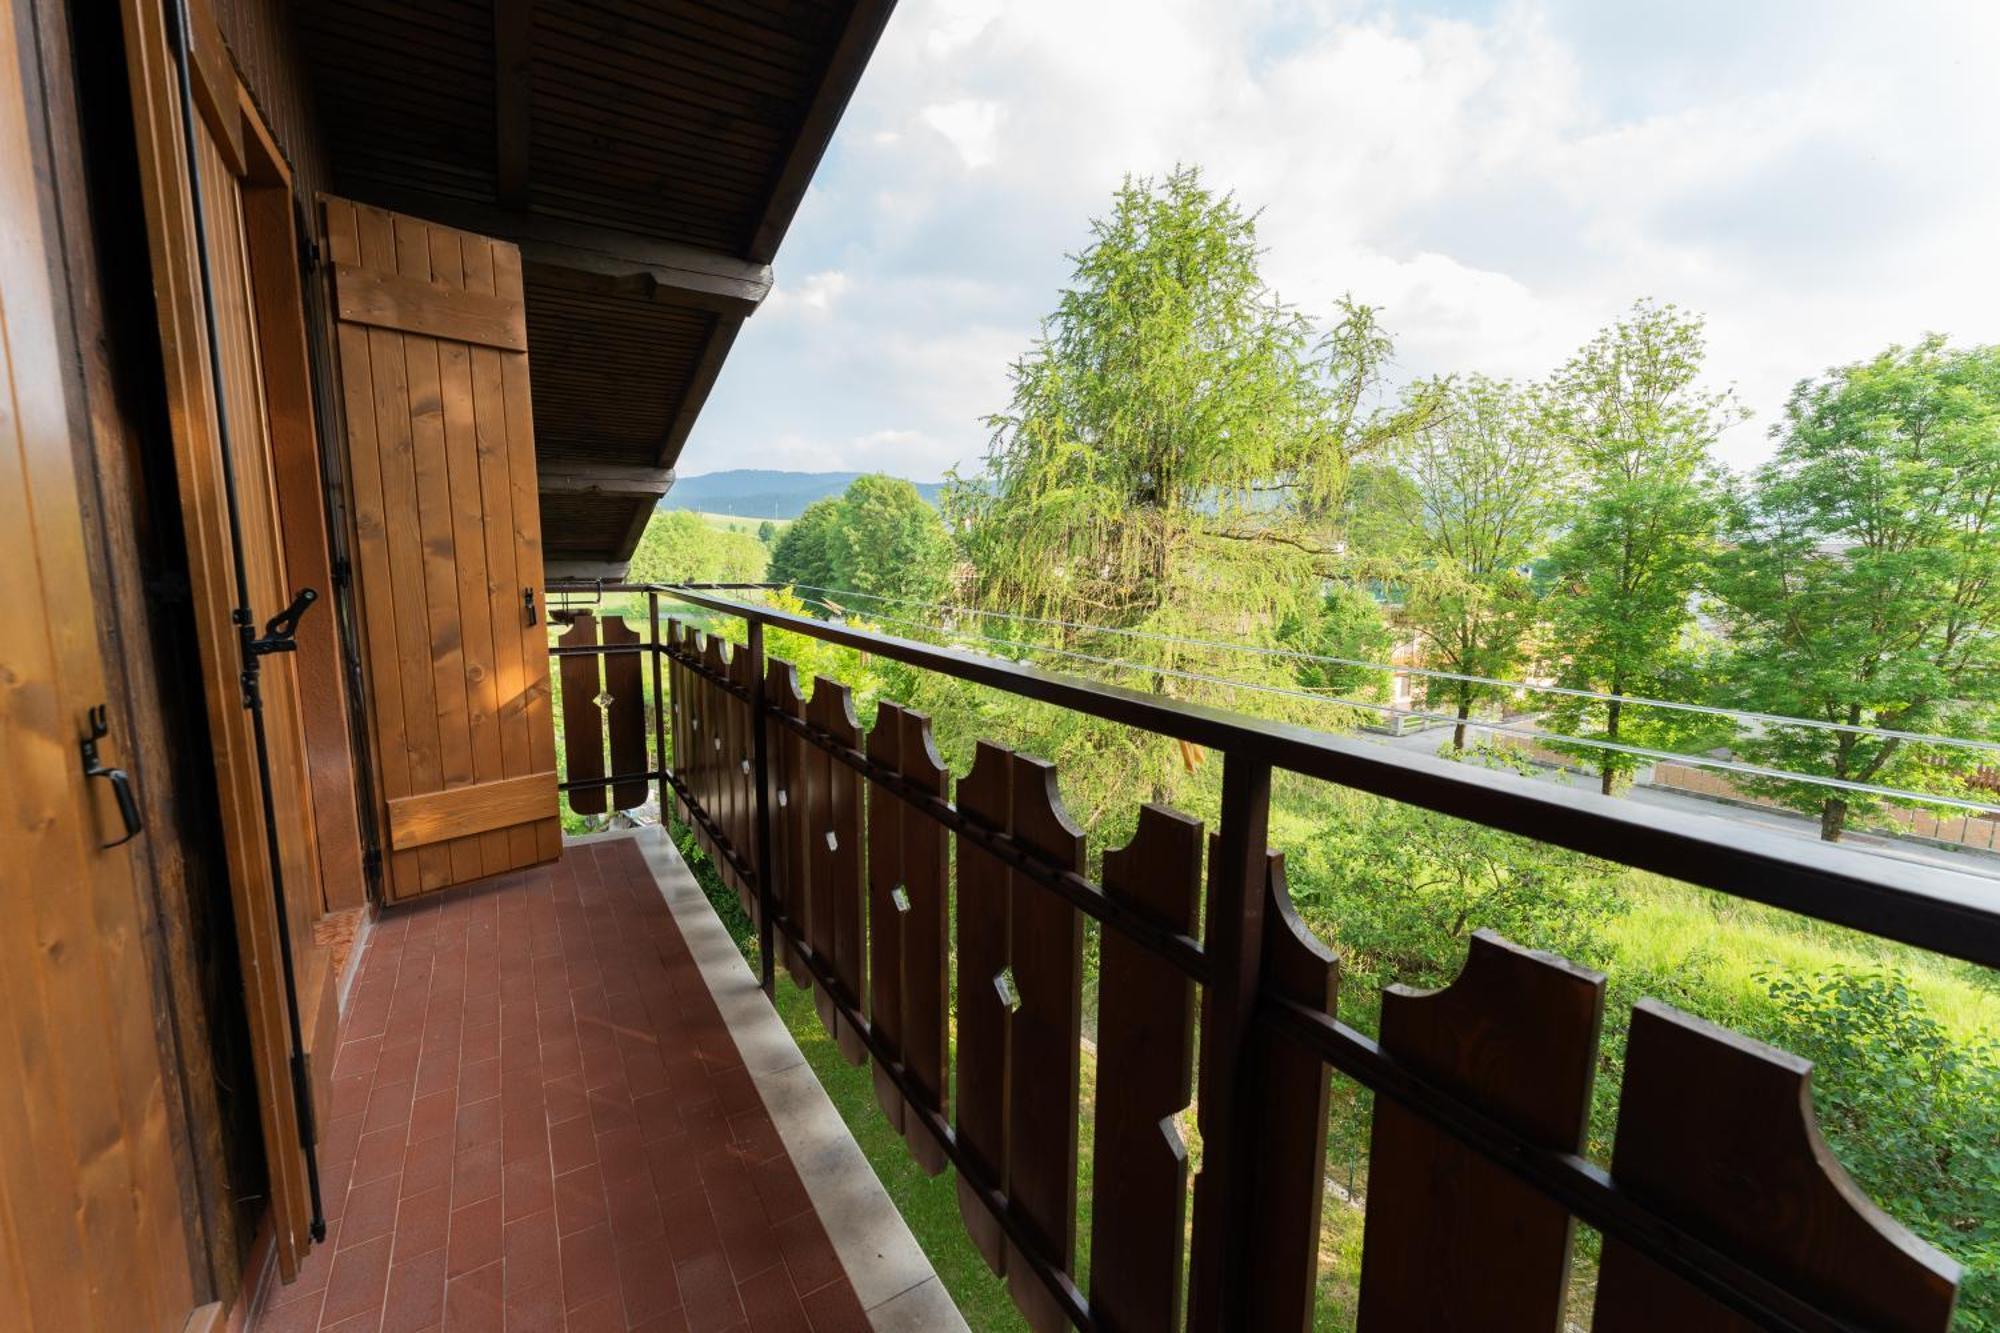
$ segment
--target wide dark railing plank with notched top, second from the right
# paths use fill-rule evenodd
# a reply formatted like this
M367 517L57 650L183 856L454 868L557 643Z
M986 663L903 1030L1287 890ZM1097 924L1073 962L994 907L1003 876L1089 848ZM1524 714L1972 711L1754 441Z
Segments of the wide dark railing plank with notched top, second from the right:
M1382 1049L1538 1147L1578 1153L1604 979L1480 931L1442 991L1388 987ZM1396 1103L1368 1151L1360 1329L1562 1323L1570 1213Z

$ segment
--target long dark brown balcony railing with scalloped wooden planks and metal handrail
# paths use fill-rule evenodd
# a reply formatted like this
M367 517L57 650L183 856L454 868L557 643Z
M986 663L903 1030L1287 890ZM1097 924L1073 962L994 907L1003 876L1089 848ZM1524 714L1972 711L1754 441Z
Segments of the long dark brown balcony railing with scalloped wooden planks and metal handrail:
M1604 1237L1602 1333L1948 1327L1958 1267L1834 1163L1804 1061L1642 1001L1604 1171L1582 1155L1600 975L1480 935L1450 987L1382 997L1378 1039L1340 1023L1334 959L1266 847L1270 781L1342 783L1988 967L2000 893L718 588L602 590L644 594L652 628L566 616L574 809L630 809L662 783L752 909L764 985L782 959L840 1051L872 1063L882 1111L922 1169L956 1171L964 1225L1030 1325L1310 1327L1338 1069L1378 1095L1362 1329L1562 1327L1576 1219ZM746 636L662 632L662 598ZM1092 883L1050 765L980 745L954 783L922 715L880 703L864 733L842 683L804 699L766 658L768 626L1218 751L1218 827L1148 805ZM646 666L670 701L650 765ZM1088 1291L1072 1277L1084 917L1102 933ZM1174 1125L1196 1091L1190 1191Z

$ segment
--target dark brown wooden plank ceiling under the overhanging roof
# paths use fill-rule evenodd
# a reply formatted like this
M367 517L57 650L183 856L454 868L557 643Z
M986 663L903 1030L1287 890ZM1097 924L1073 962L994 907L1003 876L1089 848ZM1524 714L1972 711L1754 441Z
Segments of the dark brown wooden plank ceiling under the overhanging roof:
M552 572L632 554L894 0L300 0L334 190L522 246Z

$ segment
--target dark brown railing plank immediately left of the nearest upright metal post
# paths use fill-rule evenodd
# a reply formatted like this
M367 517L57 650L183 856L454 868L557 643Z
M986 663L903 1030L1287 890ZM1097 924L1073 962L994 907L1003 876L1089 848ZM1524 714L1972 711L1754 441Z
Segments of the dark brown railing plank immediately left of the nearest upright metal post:
M1202 825L1144 805L1104 853L1104 895L1194 935ZM1188 1149L1174 1117L1194 1095L1194 983L1122 931L1098 967L1098 1107L1090 1163L1090 1309L1110 1331L1180 1327Z

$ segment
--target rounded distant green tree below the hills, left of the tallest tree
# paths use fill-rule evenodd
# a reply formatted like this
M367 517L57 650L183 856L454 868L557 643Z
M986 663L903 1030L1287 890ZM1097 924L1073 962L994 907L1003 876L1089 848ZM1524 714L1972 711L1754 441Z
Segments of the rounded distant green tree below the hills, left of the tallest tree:
M938 510L910 482L878 474L808 504L770 554L770 578L804 588L822 610L920 616L900 602L938 600L950 576L952 542Z

